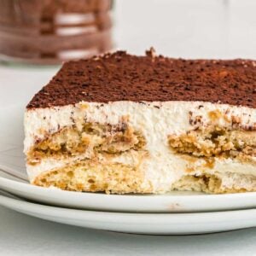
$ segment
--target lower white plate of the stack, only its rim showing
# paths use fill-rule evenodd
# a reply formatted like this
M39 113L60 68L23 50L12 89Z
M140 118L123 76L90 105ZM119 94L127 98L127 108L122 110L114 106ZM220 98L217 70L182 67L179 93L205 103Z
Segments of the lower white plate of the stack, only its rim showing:
M0 195L0 205L62 224L137 234L189 235L256 226L256 209L197 213L92 212L49 207L7 195Z

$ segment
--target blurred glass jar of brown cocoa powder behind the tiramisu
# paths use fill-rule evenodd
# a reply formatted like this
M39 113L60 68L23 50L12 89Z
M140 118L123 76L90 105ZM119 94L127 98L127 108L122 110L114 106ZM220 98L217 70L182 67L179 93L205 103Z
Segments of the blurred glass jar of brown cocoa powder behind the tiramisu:
M112 0L0 0L0 60L58 64L112 48Z

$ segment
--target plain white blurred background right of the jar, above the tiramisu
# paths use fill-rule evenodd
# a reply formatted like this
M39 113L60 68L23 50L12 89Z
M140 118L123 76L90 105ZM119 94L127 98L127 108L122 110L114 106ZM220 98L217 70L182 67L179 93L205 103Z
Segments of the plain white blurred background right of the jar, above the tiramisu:
M137 54L256 59L255 14L254 0L116 0L114 39Z

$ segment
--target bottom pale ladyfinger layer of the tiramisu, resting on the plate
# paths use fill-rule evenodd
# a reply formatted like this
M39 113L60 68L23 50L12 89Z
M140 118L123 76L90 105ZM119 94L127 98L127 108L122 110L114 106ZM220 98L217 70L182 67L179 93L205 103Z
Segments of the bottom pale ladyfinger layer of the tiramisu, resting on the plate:
M255 168L255 166L254 166ZM172 170L170 177L172 180ZM255 174L255 173L254 173ZM146 169L121 163L101 164L90 160L43 172L33 183L73 191L102 191L106 193L166 193L172 190L190 190L207 193L236 193L255 191L256 176L243 172L181 173L166 186L155 186Z

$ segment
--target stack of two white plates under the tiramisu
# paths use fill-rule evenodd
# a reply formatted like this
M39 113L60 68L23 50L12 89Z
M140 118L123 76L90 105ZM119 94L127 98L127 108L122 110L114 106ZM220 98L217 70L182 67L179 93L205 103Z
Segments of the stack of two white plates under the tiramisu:
M28 183L22 154L22 108L0 110L0 205L38 218L99 230L199 234L256 226L256 193L105 195Z

